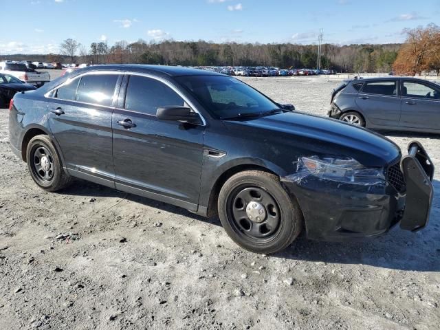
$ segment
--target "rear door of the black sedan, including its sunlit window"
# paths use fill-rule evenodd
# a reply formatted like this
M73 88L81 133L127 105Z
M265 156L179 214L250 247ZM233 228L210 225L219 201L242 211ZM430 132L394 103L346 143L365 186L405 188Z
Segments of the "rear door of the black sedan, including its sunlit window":
M50 129L67 170L76 177L114 186L111 115L121 80L117 72L94 72L52 91L47 105Z

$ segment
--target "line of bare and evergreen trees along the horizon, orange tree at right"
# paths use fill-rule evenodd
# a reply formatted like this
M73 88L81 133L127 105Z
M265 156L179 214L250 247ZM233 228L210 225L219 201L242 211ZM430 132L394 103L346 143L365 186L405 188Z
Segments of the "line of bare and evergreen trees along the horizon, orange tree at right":
M416 75L434 70L440 74L440 28L404 30L404 44L322 45L321 68L336 72L391 72ZM66 39L60 54L10 55L16 61L59 63L139 63L184 66L273 66L315 68L317 45L292 43L213 43L208 41L118 41L82 45Z

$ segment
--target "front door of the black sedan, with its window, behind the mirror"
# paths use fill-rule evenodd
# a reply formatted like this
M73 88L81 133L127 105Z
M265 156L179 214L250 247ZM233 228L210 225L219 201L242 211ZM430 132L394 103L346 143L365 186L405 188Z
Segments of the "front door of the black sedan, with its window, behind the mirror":
M112 121L116 188L197 210L202 122L158 120L158 107L189 104L154 76L126 76L121 95Z

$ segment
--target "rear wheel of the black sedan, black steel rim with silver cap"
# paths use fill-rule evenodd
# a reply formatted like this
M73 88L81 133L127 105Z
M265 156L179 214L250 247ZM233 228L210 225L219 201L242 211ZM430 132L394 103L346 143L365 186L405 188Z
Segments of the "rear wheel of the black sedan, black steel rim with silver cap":
M47 135L32 137L26 159L30 175L40 188L54 192L71 184L72 177L63 169L61 158Z

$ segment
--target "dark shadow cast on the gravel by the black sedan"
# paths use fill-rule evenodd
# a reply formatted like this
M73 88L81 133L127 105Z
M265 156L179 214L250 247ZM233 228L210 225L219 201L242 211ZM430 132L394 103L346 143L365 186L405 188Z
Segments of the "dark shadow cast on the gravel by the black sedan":
M440 191L440 181L434 180L434 190ZM221 226L218 217L205 218L184 208L162 203L153 199L126 194L88 181L77 180L61 191L65 195L124 198L151 208L172 212ZM390 232L375 239L336 243L312 241L301 234L283 252L272 254L271 258L297 261L312 261L333 264L371 265L394 270L418 272L440 271L440 197L434 195L428 228L419 232L400 230L399 225Z

